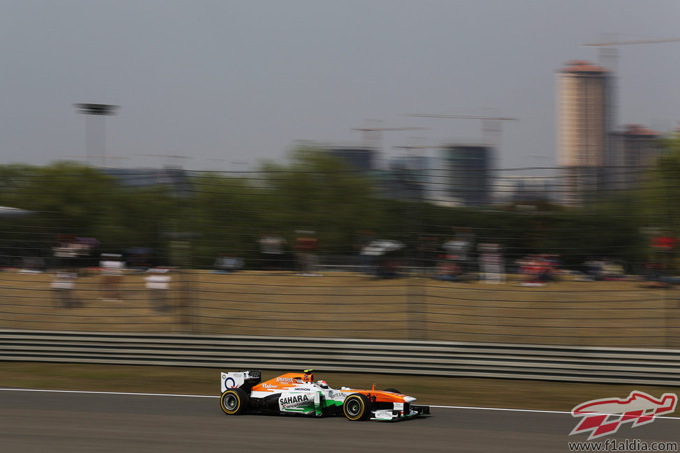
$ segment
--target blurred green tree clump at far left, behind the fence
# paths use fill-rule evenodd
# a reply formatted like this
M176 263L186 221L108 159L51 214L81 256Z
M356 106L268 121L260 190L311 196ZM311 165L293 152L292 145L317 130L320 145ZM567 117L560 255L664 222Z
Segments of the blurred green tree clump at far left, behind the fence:
M161 225L177 214L169 208L164 187L130 190L112 176L75 162L2 166L0 187L3 204L34 213L13 220L5 239L45 247L54 244L57 234L97 238L110 249L158 247Z

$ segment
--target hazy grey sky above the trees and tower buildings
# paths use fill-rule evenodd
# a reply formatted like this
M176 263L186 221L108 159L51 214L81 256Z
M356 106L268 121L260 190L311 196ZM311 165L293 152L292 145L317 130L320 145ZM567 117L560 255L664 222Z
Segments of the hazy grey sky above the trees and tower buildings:
M481 138L494 114L503 168L555 162L555 70L597 61L600 33L678 37L678 0L0 0L0 163L85 154L74 102L120 105L107 154L123 167L243 169L296 140L393 146ZM619 47L619 123L680 121L680 42ZM430 151L430 153L432 153ZM536 158L531 155L547 155Z

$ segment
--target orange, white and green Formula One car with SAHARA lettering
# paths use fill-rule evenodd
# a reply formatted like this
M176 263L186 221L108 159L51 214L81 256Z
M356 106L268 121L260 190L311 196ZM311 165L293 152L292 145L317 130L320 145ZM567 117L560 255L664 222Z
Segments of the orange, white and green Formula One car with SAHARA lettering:
M398 390L334 390L314 381L312 370L286 373L260 383L258 370L222 372L220 406L227 415L246 412L273 414L345 415L347 420L402 420L429 415L430 406L414 406L416 399Z

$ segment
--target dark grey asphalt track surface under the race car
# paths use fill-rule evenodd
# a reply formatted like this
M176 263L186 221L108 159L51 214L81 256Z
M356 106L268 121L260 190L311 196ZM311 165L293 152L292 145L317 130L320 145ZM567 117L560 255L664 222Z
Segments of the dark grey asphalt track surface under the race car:
M568 413L432 408L403 422L222 413L219 400L0 390L0 452L566 452ZM680 442L680 420L612 436ZM608 437L607 437L608 438ZM600 440L604 440L600 439Z

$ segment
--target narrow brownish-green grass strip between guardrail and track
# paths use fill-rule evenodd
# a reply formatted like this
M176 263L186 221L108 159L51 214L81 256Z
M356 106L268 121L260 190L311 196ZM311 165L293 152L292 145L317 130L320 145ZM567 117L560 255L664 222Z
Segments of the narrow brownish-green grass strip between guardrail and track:
M219 371L223 370L0 362L0 387L217 395L220 391ZM296 370L262 370L263 380L285 371ZM569 411L590 399L627 397L632 390L642 390L653 397L660 397L665 392L680 393L679 387L326 373L321 369L315 370L315 378L327 381L331 387L371 388L373 384L377 389L393 387L418 398L421 404L538 410ZM680 415L680 408L675 414Z

